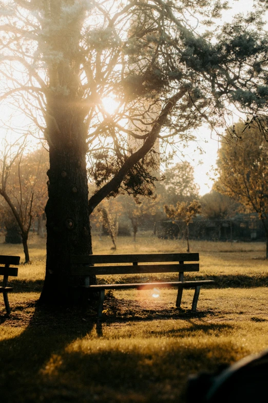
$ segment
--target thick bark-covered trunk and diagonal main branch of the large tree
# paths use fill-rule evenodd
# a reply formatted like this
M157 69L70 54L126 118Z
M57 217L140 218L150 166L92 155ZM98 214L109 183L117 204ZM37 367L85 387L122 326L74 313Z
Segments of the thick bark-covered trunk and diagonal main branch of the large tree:
M59 18L58 6L58 2L50 2L47 15L48 20L52 16L55 25ZM75 276L74 280L74 276L70 275L70 255L92 254L90 213L106 196L119 188L129 170L151 149L166 117L187 91L183 88L167 100L141 148L128 157L117 174L90 198L89 203L86 170L88 128L85 118L91 107L90 102L85 102L80 78L80 43L85 13L82 7L73 15L60 40L58 36L54 37L53 30L49 31L49 52L53 50L63 58L59 64L48 64L49 91L46 92L45 114L45 137L49 144L50 160L48 202L45 208L47 264L40 303L55 306L72 302L70 286L84 284L84 278ZM94 82L90 85L92 94L96 91L97 95ZM92 102L95 102L94 97ZM90 284L94 281L95 277L92 277Z

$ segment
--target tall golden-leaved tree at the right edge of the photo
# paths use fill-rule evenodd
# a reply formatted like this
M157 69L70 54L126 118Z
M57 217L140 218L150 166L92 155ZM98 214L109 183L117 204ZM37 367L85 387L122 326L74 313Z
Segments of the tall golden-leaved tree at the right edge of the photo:
M240 121L235 130L237 141L227 133L219 150L215 189L258 213L266 233L268 258L268 145L257 126Z

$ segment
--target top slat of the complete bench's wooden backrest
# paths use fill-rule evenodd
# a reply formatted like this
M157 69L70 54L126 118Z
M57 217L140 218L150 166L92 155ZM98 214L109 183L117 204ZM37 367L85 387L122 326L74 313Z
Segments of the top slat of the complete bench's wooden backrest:
M147 263L158 261L199 261L199 253L151 253L133 255L72 255L71 264Z

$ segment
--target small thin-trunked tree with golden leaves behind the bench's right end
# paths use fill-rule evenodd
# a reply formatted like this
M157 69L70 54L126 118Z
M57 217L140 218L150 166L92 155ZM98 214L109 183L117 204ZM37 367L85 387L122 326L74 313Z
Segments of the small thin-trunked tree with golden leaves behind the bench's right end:
M186 241L187 241L187 252L190 252L189 247L189 223L192 222L193 218L200 214L201 205L197 200L193 200L190 203L178 202L176 206L164 205L164 210L168 218L174 220L183 221L186 225Z

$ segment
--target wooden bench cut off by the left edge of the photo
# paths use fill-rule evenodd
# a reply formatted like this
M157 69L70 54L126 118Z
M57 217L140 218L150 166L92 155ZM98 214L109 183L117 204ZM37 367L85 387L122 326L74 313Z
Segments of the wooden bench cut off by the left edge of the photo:
M18 266L20 263L20 256L6 256L6 255L0 255L0 265L5 265L5 266L0 266L0 275L4 276L3 278L3 286L0 287L0 293L3 293L4 296L4 302L5 302L5 307L7 310L7 313L9 314L11 309L9 306L8 302L8 293L13 290L13 287L8 287L8 276L17 276L17 267L9 267L10 265L12 266Z

